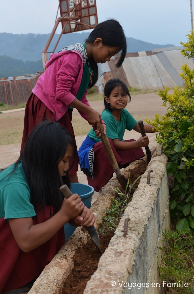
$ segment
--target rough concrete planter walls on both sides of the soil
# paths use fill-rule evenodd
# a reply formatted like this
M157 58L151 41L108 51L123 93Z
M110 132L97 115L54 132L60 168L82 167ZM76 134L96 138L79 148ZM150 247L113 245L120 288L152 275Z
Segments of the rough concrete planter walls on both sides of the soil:
M128 177L130 169L138 168L140 164L141 160L127 167L123 171L125 177ZM159 246L162 247L162 230L170 229L166 164L167 157L157 149L84 294L161 293L157 270L158 258L161 257ZM147 184L147 172L150 169L154 172L151 173L150 184ZM96 216L97 228L115 197L112 188L117 186L118 182L113 178L91 207ZM122 232L125 218L130 218L126 237ZM28 293L62 294L64 281L74 267L71 257L77 247L86 242L86 233L77 228Z

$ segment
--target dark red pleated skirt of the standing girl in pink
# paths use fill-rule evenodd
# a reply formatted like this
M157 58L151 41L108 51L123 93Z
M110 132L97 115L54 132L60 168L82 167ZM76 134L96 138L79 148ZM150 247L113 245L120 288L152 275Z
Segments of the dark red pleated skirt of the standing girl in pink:
M30 132L33 130L34 126L41 121L55 121L55 115L50 109L48 109L44 103L33 93L28 98L26 107L25 107L25 116L24 116L24 129L23 129L23 138L21 144L21 151L23 151L25 142L30 135ZM62 116L58 121L64 128L66 128L73 136L75 140L74 130L69 116L68 111ZM75 141L76 142L76 141ZM73 158L69 160L69 166L71 165ZM69 171L69 175L73 176L78 171L79 158L76 150L76 161L74 166Z

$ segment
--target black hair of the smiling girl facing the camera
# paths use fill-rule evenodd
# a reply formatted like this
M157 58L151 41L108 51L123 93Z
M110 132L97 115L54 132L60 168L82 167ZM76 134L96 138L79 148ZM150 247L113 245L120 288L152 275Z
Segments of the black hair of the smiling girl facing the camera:
M131 96L129 93L129 89L125 85L123 81L121 81L119 78L113 78L106 82L104 86L104 110L107 109L109 111L112 111L113 109L110 107L110 103L106 102L105 97L110 97L111 92L113 91L114 88L116 87L122 87L122 90L124 93L127 94L128 98L128 103L131 101Z

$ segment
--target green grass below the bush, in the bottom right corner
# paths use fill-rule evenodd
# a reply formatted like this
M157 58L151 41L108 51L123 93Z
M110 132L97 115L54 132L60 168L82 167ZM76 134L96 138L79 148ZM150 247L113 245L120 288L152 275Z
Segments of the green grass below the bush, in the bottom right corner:
M159 265L161 281L167 283L188 283L188 287L164 285L164 293L191 294L194 293L194 233L187 231L163 232L164 247L160 248L163 256Z

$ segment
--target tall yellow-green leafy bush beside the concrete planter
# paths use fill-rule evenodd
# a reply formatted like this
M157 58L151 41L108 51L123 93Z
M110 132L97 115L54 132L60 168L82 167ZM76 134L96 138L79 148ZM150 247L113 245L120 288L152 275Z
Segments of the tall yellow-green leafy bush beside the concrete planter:
M194 56L194 33L188 34L188 43L181 53L188 59ZM155 125L156 140L163 145L169 158L167 175L171 178L171 217L178 220L177 230L194 229L194 70L187 64L180 74L184 88L175 87L172 94L169 88L159 92L168 107L167 113L148 123Z

